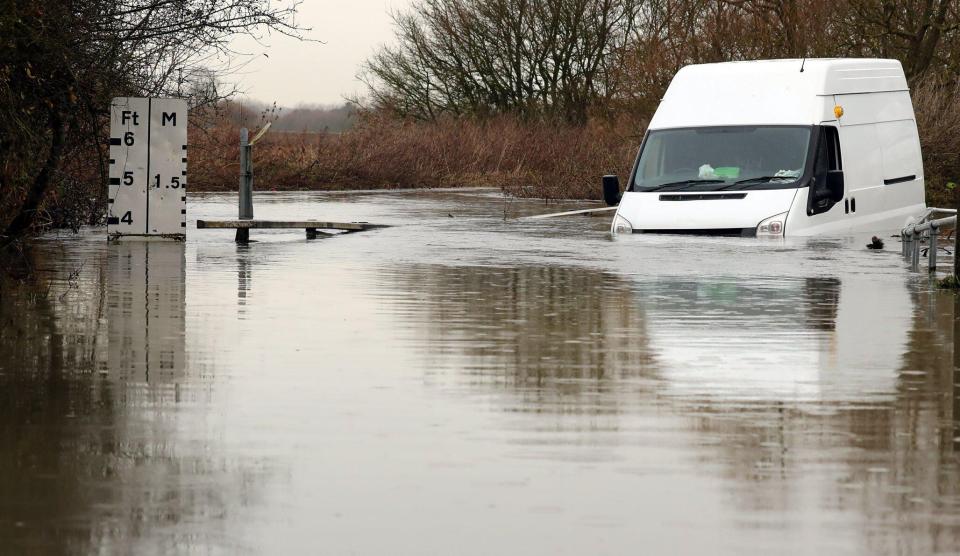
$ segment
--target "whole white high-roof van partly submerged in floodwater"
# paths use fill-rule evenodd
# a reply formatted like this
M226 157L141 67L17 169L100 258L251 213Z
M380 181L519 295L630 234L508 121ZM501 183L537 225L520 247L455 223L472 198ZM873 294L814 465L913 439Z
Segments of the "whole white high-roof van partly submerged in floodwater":
M924 201L896 60L687 66L647 130L612 232L805 236L899 231Z

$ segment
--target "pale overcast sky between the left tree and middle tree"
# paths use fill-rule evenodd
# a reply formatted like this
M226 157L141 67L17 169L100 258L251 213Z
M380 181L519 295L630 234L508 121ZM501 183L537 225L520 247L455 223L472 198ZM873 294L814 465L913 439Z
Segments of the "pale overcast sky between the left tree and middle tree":
M326 44L298 42L273 34L258 44L242 38L233 48L249 54L233 61L246 64L225 81L244 96L292 107L300 103L340 104L345 95L362 93L356 74L377 46L393 40L390 10L411 0L304 0L298 23L307 35ZM266 56L264 56L266 54Z

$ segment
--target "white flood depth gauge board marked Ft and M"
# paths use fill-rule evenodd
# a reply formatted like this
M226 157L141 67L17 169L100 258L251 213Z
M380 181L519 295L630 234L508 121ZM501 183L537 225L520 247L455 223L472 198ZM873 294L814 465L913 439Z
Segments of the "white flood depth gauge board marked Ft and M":
M187 115L180 99L113 99L109 239L186 237Z

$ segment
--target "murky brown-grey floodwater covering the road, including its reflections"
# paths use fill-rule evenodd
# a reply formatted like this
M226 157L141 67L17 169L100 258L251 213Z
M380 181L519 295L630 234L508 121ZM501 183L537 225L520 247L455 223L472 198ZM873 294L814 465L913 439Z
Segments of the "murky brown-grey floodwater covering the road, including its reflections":
M192 195L185 244L35 242L0 273L0 552L960 551L954 296L896 240L514 218L562 208L258 193L395 227L237 246Z

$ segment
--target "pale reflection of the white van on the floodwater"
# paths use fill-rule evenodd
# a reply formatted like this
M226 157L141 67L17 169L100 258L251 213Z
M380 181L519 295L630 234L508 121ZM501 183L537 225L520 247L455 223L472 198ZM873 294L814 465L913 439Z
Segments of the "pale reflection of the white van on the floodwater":
M909 370L915 302L902 281L666 278L638 284L636 299L668 395L868 400L896 393Z

